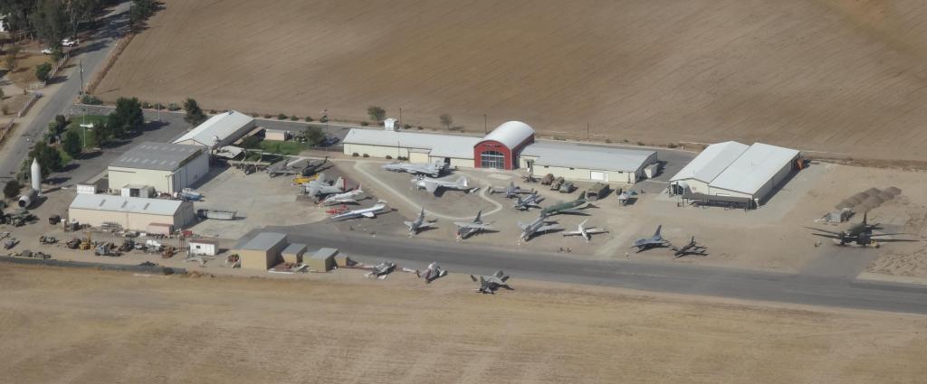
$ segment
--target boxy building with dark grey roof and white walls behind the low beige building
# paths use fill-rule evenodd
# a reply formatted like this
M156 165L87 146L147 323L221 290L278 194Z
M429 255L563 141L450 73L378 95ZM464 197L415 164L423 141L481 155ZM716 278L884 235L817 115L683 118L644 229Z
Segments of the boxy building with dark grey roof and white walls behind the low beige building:
M109 188L147 185L180 192L210 172L210 156L199 145L143 142L109 164Z

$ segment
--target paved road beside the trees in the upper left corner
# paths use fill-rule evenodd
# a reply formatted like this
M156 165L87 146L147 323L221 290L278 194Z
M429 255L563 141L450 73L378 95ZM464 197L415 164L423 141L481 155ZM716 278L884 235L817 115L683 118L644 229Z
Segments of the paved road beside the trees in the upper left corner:
M77 56L73 56L70 63L83 62L84 81L90 80L96 69L106 60L116 41L128 30L127 11L129 5L129 2L124 2L113 8L113 11L103 20L106 27L96 31L91 39L88 39L81 47L72 51L72 54L76 53ZM32 119L32 123L26 126L25 129L19 128L18 135L31 137L33 140L41 138L44 130L48 128L48 122L54 120L56 115L66 113L81 91L80 72L78 70L72 72L70 78L61 83L57 93L46 96L51 97L51 99L48 100L42 110L37 112L35 118ZM16 140L18 135L14 135L13 140ZM17 145L14 142L7 142L4 149L6 156L0 161L0 177L15 176L22 159L26 158L29 150L29 145Z

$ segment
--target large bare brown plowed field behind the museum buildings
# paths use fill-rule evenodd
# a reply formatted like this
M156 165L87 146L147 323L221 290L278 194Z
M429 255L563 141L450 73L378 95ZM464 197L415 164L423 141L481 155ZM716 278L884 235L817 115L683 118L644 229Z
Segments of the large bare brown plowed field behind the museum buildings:
M913 0L166 3L96 93L927 158L927 6Z

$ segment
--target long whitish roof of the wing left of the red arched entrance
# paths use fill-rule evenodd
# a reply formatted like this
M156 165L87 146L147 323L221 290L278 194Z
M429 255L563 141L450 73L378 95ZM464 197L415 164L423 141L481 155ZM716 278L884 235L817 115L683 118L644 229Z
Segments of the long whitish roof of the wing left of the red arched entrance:
M438 157L473 158L478 137L394 130L352 129L345 136L346 144L381 145L410 149L425 149Z

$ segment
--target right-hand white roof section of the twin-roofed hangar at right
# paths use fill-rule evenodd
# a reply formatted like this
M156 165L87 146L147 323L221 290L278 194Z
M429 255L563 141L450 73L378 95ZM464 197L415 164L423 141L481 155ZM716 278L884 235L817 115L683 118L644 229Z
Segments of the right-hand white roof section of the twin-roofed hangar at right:
M728 191L756 194L763 184L788 165L798 151L756 142L717 175L708 186Z

